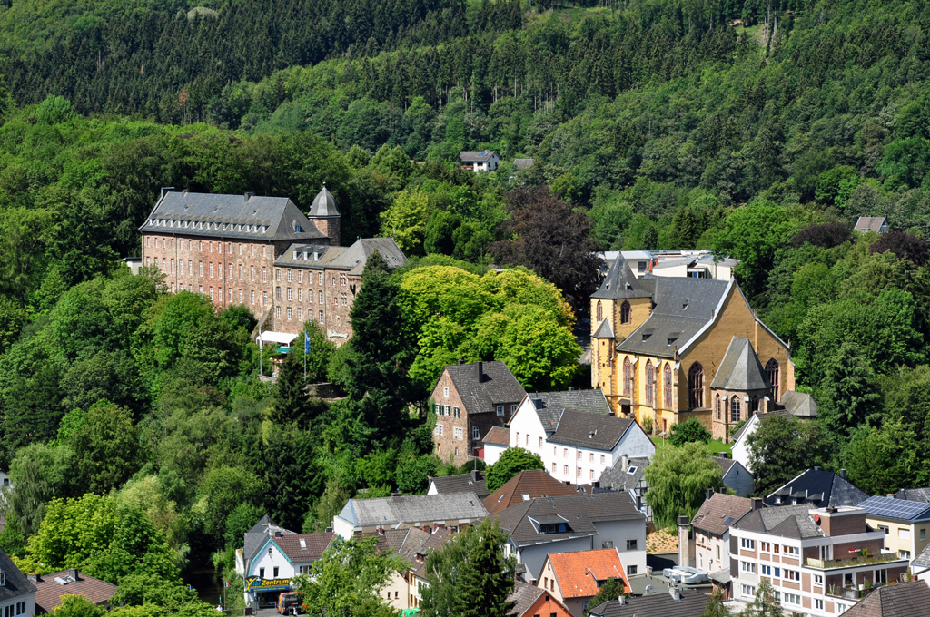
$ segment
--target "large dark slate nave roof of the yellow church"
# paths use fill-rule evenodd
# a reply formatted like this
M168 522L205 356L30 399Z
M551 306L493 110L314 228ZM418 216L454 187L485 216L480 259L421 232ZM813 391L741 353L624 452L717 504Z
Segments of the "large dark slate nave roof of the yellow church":
M652 315L618 346L618 351L673 358L705 325L724 298L730 282L688 277L654 279Z

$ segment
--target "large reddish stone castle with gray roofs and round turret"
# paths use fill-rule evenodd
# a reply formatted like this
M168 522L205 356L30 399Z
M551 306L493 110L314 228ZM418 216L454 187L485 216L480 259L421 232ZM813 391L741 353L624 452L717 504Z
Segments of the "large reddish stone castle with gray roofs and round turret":
M166 188L140 227L142 265L160 269L171 293L245 305L264 330L298 334L315 321L342 343L367 257L378 251L391 269L406 257L392 238L339 246L340 218L326 187L309 217L286 197Z

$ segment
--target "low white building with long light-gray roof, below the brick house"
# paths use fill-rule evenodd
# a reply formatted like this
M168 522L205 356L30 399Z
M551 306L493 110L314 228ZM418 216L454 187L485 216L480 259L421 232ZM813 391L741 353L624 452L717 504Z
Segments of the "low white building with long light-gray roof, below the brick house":
M424 532L458 532L486 516L487 510L474 492L350 499L333 517L333 531L345 540L358 533L383 532L402 525Z

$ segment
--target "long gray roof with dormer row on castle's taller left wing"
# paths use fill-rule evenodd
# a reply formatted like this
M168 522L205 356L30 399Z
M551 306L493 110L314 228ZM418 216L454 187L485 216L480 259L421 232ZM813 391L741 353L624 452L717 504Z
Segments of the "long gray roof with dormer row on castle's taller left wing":
M143 233L231 240L313 241L326 234L286 197L167 190L139 228Z

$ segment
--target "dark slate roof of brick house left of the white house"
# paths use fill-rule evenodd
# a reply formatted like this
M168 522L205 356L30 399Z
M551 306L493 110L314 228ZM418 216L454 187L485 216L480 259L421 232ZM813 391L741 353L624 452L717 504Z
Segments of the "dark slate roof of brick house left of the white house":
M494 412L497 405L520 402L526 396L526 390L501 361L449 364L445 370L469 414ZM505 411L510 414L509 409Z

